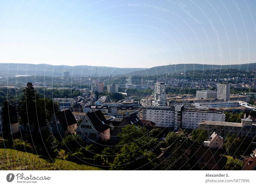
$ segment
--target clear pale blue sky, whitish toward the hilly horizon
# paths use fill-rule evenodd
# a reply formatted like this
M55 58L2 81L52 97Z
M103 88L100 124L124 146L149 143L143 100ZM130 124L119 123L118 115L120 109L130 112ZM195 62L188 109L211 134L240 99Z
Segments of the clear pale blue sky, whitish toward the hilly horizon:
M256 62L256 1L0 1L0 62Z

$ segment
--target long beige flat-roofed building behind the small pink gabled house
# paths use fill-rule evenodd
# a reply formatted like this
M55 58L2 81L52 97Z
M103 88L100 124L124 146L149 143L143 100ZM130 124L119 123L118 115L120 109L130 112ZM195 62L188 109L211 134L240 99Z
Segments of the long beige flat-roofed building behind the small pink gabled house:
M225 121L201 121L199 128L205 129L210 135L216 132L220 136L226 137L227 134L235 134L237 136L255 137L256 125L251 119L242 119L241 123L225 122Z

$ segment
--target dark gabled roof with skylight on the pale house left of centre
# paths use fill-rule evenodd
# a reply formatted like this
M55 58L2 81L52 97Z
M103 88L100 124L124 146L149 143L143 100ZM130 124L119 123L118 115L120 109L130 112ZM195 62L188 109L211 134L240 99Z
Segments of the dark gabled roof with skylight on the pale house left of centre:
M104 115L100 110L87 113L86 115L92 122L92 125L94 126L94 129L101 133L104 130L107 130L110 128L109 124L110 121L107 121Z

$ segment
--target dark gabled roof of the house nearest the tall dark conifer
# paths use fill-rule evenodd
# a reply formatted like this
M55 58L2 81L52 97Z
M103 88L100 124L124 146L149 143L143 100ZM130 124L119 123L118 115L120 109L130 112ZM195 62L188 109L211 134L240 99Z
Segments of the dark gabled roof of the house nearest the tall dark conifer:
M68 126L76 123L76 118L74 117L70 109L56 112L55 116L59 120L62 128L64 128L65 130L67 129Z

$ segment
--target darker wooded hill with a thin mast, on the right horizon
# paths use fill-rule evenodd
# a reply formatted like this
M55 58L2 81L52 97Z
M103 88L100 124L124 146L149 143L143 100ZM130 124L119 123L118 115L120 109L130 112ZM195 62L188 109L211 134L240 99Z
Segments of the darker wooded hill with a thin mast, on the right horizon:
M175 72L186 72L194 70L216 70L216 69L256 69L256 63L241 64L241 65L203 65L203 64L178 64L178 65L166 65L166 66L156 66L148 68L145 70L134 71L129 75L156 75L165 73L175 73Z

